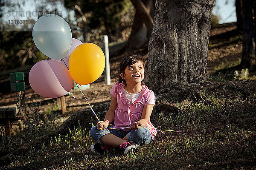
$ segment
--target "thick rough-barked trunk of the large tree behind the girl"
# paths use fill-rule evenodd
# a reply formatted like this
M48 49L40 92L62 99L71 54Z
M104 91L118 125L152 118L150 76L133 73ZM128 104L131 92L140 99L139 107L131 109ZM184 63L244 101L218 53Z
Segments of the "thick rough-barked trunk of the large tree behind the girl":
M213 0L157 0L148 45L146 84L156 93L207 74Z

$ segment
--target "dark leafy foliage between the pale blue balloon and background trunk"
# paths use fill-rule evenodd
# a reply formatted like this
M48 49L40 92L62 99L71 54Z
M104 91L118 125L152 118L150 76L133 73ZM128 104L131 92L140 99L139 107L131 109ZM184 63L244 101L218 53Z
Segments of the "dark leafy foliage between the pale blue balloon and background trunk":
M65 0L64 2L67 8L75 11L78 25L87 31L89 39L88 33L94 37L100 33L108 35L110 42L117 41L115 37L118 37L116 33L120 33L119 29L122 29L122 16L130 11L131 6L129 0ZM91 32L93 29L97 30L98 34Z

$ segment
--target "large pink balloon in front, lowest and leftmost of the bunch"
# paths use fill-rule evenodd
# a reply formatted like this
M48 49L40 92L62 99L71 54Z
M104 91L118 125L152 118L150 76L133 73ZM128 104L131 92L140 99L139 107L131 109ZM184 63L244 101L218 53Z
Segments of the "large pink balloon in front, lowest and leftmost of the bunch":
M54 59L44 59L31 68L29 83L39 95L57 98L71 90L73 79L66 66Z

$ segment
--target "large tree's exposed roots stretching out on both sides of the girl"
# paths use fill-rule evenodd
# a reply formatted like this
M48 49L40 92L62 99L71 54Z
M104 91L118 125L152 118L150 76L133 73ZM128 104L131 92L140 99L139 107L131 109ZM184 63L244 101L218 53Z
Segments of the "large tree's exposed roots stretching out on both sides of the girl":
M187 100L187 102L191 100L201 100L208 105L212 105L210 102L206 101L201 96L201 90L203 88L206 88L208 91L216 92L218 90L218 93L225 94L227 96L231 96L231 95L228 95L228 93L231 93L231 92L234 93L239 91L243 94L241 102L244 102L247 100L247 97L248 97L248 94L246 91L256 91L256 82L242 82L242 81L241 82L229 81L226 83L205 82L203 85L197 85L197 84L187 85L187 84L181 83L180 86L176 85L173 87L175 88L162 90L163 94L156 95L156 105L151 115L152 122L153 120L157 120L158 114L161 112L167 112L167 113L185 112L174 105L165 103L164 100L168 100L169 102L173 102L173 103L176 103L176 102L182 103L185 100ZM105 112L108 111L109 105L110 105L110 102L105 102L101 105L97 105L93 107L93 110L96 111L97 115L99 116L99 119L104 118ZM95 116L91 113L91 110L89 108L85 108L81 111L74 113L72 116L70 116L70 118L68 118L65 122L63 122L62 125L54 132L41 136L38 139L33 140L32 142L23 144L21 147L17 148L16 150L12 151L6 156L3 156L2 158L0 158L0 161L1 162L9 161L10 159L12 159L13 156L20 153L24 153L26 152L26 150L29 150L29 148L31 147L39 146L42 143L48 143L52 137L58 136L58 134L65 135L66 133L69 132L69 129L73 130L74 127L78 125L78 122L80 122L81 127L84 127L87 130L90 130L90 128L92 127L92 123L94 122L96 124L97 120Z

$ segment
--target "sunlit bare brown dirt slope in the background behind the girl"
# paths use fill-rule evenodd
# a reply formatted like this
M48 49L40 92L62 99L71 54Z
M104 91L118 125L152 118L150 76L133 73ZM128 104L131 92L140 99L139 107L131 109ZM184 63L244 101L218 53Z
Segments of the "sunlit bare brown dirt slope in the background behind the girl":
M213 28L210 32L210 36L215 37L212 41L218 41L218 35L221 35L227 31L233 31L236 29L235 23L222 24L216 28ZM210 39L211 41L211 39ZM217 45L216 45L217 44ZM216 65L223 65L226 61L234 60L237 61L238 58L241 58L242 44L241 42L231 46L218 46L219 43L213 43L209 47L209 57L208 57L208 74L211 74L215 71ZM122 55L112 56L110 58L110 69L111 69L111 85L105 85L104 74L90 84L90 88L83 90L84 95L90 104L98 105L102 102L109 101L111 99L111 94L109 93L113 84L117 81L119 76L119 62L120 59L124 56L130 54L140 54L144 57L147 57L146 49L140 49L138 51L125 51ZM26 83L29 84L29 83ZM57 105L56 99L44 98L36 94L29 85L25 86L25 101L27 105L32 108L38 108L41 113L48 111ZM79 111L83 108L88 107L86 100L80 91L73 93L76 96L76 99L72 95L66 95L65 101L67 106L67 113L62 116L69 116L76 111ZM16 105L18 101L17 92L11 92L8 94L0 93L0 106L9 106ZM59 107L59 112L61 114L61 108Z

